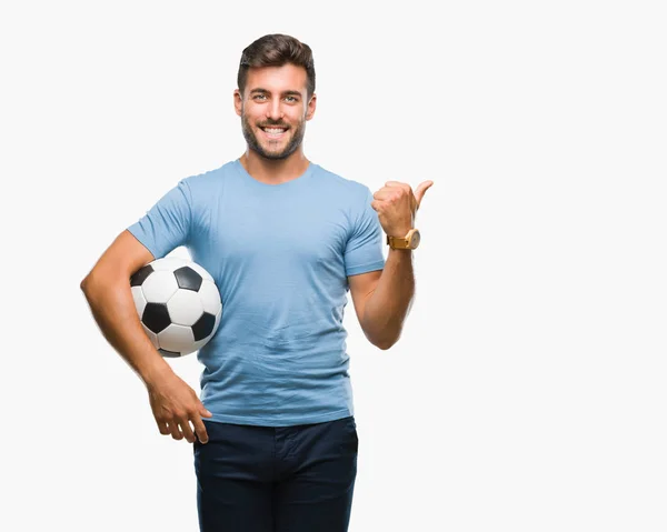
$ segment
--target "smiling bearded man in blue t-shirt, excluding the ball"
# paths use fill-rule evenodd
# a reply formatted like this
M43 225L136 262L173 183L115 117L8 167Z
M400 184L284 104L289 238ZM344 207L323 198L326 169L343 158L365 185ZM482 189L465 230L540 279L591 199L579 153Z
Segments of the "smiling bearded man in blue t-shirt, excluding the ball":
M389 181L371 194L310 162L302 139L316 100L307 44L252 42L233 92L246 152L181 180L81 283L102 333L145 382L160 433L193 443L202 531L347 530L358 450L347 291L382 350L412 300L415 213L432 181L415 193ZM198 353L202 401L143 333L128 282L180 245L213 275L223 305Z

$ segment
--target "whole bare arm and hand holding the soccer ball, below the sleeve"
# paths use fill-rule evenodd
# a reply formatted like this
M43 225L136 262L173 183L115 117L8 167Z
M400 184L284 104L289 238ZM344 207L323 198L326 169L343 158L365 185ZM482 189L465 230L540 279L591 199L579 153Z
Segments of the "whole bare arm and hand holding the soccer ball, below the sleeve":
M92 315L103 337L147 387L151 409L162 434L175 440L208 441L200 415L210 416L192 390L172 370L147 337L130 289L130 277L153 255L129 231L123 231L81 281ZM179 426L180 425L180 426Z

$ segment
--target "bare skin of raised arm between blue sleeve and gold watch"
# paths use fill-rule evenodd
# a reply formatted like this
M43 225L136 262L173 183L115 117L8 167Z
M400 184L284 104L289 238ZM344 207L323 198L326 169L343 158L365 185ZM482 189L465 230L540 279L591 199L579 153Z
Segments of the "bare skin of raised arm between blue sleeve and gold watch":
M389 250L385 269L348 278L359 324L370 343L391 348L415 295L411 250Z

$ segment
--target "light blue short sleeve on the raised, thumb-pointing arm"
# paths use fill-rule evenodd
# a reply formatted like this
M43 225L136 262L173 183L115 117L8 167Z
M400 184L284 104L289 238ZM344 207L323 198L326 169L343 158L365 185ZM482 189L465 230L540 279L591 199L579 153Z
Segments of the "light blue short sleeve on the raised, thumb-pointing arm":
M365 187L364 203L352 217L354 227L345 250L346 275L356 275L385 268L382 225L370 205L372 193Z

